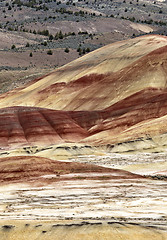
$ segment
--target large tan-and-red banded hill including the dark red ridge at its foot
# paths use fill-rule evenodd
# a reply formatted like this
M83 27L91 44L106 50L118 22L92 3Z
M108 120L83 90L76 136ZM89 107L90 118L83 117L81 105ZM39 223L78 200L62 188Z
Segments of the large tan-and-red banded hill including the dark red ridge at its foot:
M166 69L167 37L147 35L91 52L1 95L1 144L165 146Z

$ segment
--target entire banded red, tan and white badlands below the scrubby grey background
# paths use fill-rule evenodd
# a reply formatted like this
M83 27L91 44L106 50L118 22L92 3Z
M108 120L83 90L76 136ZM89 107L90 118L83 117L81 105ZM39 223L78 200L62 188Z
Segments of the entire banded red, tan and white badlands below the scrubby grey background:
M147 35L0 96L0 239L167 239L166 69Z

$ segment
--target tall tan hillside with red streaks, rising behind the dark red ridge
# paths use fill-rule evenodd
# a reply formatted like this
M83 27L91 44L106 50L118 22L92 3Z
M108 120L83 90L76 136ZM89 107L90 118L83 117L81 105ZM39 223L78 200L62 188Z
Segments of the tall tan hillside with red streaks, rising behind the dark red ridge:
M0 107L101 110L145 88L164 88L166 45L154 35L107 45L2 95Z

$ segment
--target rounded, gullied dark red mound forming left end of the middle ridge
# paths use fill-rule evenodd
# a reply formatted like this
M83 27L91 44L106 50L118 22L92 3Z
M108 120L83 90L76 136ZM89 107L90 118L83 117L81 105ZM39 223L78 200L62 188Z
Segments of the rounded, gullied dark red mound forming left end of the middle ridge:
M87 136L68 112L29 107L0 110L1 148L76 142Z

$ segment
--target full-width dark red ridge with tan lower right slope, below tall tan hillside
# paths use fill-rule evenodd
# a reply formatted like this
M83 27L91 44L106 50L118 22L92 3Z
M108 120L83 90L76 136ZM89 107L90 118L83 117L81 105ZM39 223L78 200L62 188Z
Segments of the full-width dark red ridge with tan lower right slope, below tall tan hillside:
M166 115L167 90L155 88L142 90L103 111L5 108L0 109L0 146L15 148L80 141L114 144L152 137L166 132Z

